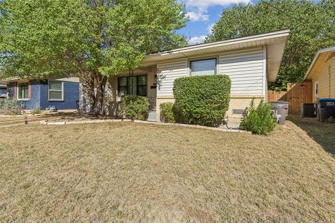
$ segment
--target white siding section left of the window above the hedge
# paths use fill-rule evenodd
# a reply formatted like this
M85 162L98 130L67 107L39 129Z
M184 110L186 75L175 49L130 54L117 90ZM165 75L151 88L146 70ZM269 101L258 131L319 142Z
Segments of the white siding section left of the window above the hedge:
M187 60L178 60L172 62L158 63L157 66L157 95L170 96L173 95L174 79L186 77L187 75Z

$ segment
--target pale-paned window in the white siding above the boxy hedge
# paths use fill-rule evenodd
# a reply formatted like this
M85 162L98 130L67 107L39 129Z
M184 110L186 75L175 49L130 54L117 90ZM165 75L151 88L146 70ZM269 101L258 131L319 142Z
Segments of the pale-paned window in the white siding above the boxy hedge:
M191 76L216 75L216 59L191 61Z

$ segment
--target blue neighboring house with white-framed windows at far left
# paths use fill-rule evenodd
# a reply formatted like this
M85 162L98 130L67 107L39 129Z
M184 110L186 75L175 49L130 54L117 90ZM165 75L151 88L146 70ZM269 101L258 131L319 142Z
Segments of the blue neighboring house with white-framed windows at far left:
M79 77L10 79L8 96L22 102L24 109L77 109Z

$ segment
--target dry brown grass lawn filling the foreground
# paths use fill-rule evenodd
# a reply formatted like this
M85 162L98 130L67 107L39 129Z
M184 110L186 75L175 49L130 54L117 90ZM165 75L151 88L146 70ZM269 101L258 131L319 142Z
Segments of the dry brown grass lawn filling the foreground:
M310 133L2 128L0 222L335 222L334 155Z

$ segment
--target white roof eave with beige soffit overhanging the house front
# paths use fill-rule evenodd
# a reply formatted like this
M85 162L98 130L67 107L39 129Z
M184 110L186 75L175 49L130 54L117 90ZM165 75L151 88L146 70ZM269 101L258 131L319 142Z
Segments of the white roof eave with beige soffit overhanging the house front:
M267 75L269 81L273 82L276 80L278 75L285 51L285 45L289 35L290 29L285 29L253 36L191 45L188 47L181 47L165 52L150 54L144 59L144 63L151 65L159 61L168 61L206 54L216 54L221 52L234 51L237 49L247 49L267 45Z

